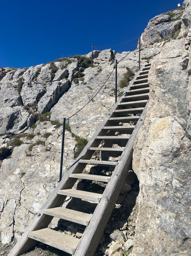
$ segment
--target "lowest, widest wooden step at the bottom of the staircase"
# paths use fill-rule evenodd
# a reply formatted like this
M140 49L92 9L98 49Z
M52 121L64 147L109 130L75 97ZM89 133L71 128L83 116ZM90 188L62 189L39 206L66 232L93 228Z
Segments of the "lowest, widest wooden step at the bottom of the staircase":
M28 234L28 238L32 238L41 243L48 244L70 254L74 254L77 245L79 244L78 238L74 238L50 228L32 231Z

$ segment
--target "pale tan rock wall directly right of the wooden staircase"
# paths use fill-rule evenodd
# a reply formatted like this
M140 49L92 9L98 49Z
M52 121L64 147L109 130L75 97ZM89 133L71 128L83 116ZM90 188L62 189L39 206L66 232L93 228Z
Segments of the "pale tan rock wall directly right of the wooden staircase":
M190 6L184 2L183 17ZM183 19L187 37L167 42L152 60L149 108L134 145L140 194L132 256L190 254L191 29Z

